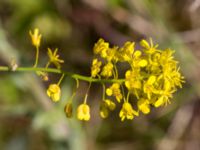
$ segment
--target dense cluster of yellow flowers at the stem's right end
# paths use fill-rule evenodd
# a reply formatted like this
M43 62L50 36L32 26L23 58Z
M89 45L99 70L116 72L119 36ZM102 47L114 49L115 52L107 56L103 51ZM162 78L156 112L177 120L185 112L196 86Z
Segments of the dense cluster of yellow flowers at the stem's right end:
M106 95L114 97L118 103L124 100L119 112L122 121L133 119L140 112L148 114L151 107L170 103L172 94L178 87L181 88L184 82L178 62L173 56L174 50L158 49L158 45L154 45L152 39L149 42L141 40L140 47L141 49L135 50L135 43L130 41L125 42L122 47L110 47L108 42L99 39L93 49L95 58L91 67L91 77L116 80L106 89ZM121 77L123 82L117 82L117 63L125 63L128 68ZM124 90L125 87L127 90ZM135 110L129 102L130 95L137 101ZM106 118L108 110L109 106L103 99L100 116Z

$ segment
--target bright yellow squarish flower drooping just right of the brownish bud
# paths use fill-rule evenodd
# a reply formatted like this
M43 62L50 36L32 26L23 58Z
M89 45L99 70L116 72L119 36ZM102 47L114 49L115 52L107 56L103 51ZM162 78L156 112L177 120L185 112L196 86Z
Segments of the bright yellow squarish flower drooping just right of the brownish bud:
M77 108L77 118L79 120L90 120L90 107L87 104L81 104Z

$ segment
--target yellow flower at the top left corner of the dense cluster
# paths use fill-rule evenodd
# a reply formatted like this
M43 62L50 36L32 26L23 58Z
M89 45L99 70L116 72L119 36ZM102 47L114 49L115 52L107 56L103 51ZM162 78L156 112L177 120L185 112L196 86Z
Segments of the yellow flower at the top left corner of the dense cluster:
M105 42L103 39L99 39L97 43L95 43L93 51L94 54L100 54L102 58L107 56L107 50L109 48L109 43Z

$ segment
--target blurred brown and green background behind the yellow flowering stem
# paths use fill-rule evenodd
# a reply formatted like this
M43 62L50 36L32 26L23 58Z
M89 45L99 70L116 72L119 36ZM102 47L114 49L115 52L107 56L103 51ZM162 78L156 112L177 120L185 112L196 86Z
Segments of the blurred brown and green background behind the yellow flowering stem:
M200 150L200 0L0 0L0 66L15 59L32 66L35 50L29 30L42 33L39 66L47 47L59 48L63 69L90 74L93 44L104 38L122 46L152 37L176 51L186 83L171 105L121 122L119 110L99 117L101 86L89 95L92 117L67 119L64 106L75 81L66 77L62 99L52 103L33 73L0 72L0 149L2 150ZM74 106L83 101L80 82Z

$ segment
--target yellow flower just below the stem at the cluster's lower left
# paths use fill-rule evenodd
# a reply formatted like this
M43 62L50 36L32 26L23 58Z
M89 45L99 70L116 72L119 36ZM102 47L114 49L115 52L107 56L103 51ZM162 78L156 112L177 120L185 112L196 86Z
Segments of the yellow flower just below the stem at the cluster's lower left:
M122 94L120 90L120 84L119 83L113 83L112 86L106 89L106 94L108 96L115 96L118 102L122 99Z

